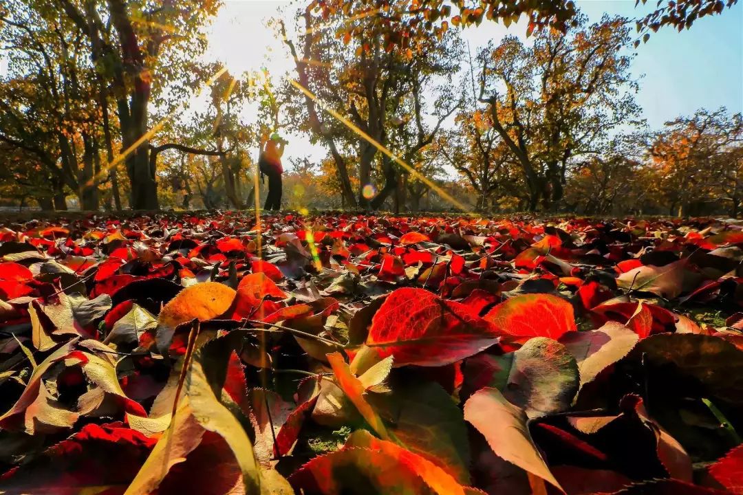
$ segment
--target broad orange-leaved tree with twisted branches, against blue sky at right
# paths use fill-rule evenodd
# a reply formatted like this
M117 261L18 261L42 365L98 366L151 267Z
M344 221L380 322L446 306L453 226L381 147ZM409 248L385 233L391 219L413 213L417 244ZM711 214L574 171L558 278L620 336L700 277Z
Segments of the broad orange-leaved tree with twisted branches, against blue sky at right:
M521 168L530 210L561 200L571 160L639 114L626 19L585 22L565 35L539 31L532 47L507 36L478 55L479 100Z

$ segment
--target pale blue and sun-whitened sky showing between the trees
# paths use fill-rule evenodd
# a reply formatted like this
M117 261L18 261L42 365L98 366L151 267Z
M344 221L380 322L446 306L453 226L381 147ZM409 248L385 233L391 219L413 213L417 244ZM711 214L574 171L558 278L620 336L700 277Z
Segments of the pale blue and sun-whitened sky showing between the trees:
M591 22L599 21L604 13L637 17L644 12L642 7L635 10L635 0L576 3ZM205 57L224 62L231 73L261 67L268 68L273 77L291 72L293 61L265 25L270 17L291 19L290 4L285 0L225 0L210 26ZM288 29L292 25L287 22ZM507 34L525 38L525 33L525 20L509 28L484 21L461 35L474 54L490 39L497 43ZM663 28L636 51L632 73L641 76L637 102L651 128L661 128L663 122L693 114L698 108L725 106L730 112L743 112L743 2L725 9L721 16L698 19L681 33ZM254 111L250 105L245 109L248 122ZM287 137L285 163L291 158L309 157L318 162L325 157L325 149L311 145L307 137L291 133Z

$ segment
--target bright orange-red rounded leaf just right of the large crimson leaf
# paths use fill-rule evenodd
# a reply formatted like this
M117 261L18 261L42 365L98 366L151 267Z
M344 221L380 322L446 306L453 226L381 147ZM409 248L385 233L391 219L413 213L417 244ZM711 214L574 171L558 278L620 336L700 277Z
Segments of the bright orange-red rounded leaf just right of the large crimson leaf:
M524 294L507 299L484 316L485 320L516 337L558 339L577 330L573 306L549 294Z

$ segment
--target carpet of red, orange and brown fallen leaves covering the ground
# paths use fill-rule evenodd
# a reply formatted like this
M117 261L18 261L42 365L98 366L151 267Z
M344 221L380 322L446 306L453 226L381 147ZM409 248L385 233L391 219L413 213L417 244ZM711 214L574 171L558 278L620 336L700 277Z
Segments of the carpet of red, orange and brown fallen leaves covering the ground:
M743 229L0 231L0 491L743 494Z

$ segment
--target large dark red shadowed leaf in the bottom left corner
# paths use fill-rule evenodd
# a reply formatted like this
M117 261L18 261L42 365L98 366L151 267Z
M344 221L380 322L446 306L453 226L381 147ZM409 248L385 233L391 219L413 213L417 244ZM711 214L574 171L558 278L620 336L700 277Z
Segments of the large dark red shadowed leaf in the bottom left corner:
M157 440L120 422L86 424L70 438L0 476L4 493L123 494ZM116 462L111 462L116 459ZM100 488L108 490L101 492Z

